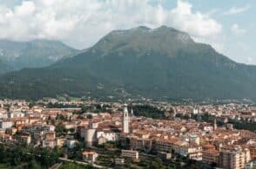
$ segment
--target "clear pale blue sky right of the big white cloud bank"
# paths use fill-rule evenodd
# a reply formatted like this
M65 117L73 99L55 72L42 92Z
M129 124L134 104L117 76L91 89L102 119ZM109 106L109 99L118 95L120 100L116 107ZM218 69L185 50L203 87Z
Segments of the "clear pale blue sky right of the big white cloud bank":
M156 3L157 1L152 1ZM222 25L219 37L220 52L237 62L256 64L256 2L255 0L187 0L194 12L208 13ZM162 1L163 6L172 9L176 1ZM237 12L235 12L237 10ZM228 13L229 11L233 11ZM238 25L241 32L233 32Z

